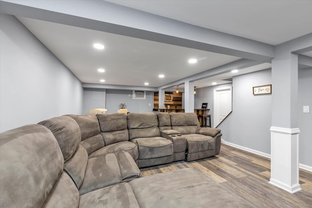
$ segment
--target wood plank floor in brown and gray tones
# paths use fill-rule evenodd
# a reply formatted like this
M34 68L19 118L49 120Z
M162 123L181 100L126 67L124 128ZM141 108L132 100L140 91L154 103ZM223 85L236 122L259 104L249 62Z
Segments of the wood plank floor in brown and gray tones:
M270 159L224 144L221 144L220 154L215 157L143 168L141 172L147 176L182 168L201 170L256 208L312 208L311 172L299 170L302 190L291 194L268 183Z

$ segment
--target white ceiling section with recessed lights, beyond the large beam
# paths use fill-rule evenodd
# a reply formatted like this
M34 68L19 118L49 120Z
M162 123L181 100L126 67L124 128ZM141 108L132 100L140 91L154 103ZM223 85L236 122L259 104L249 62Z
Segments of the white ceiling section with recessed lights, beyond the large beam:
M165 43L19 17L83 83L158 87L232 62L232 57ZM104 50L93 48L95 42ZM189 58L197 58L189 64ZM99 74L98 68L105 72ZM159 74L164 74L162 79Z

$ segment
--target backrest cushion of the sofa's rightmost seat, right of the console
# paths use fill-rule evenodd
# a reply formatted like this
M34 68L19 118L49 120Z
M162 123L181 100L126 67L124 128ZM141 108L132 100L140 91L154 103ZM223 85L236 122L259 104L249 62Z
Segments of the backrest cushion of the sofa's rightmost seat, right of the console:
M172 129L181 134L196 133L199 126L196 113L170 113Z

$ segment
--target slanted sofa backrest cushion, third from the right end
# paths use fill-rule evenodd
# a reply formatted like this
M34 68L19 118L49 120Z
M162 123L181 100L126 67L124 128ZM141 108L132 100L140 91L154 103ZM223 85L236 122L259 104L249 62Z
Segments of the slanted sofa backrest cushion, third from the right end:
M125 113L97 114L105 145L129 141L127 115Z

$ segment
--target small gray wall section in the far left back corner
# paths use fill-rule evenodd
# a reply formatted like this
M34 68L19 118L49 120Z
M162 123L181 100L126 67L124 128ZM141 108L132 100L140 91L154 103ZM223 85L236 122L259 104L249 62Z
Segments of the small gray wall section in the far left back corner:
M106 108L105 89L83 89L82 113L89 114L90 109Z

